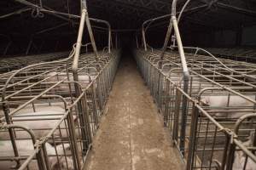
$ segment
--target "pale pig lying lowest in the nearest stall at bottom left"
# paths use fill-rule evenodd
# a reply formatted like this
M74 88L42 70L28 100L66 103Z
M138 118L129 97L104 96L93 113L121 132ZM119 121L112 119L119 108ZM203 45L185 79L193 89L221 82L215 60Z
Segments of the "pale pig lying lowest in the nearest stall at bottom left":
M19 150L20 156L30 156L32 154L32 151L34 150L32 140L15 140L15 142ZM70 151L69 144L63 144L63 145L59 144L54 147L51 144L46 142L45 146L46 146L48 159L49 159L49 167L51 167L51 170L59 170L59 169L73 170L74 169L73 158L70 155L71 151ZM55 148L56 148L56 151L55 151ZM1 150L1 156L3 157L15 156L13 146L10 140L0 140L0 150ZM65 153L67 156L66 158L64 156ZM56 155L59 156L59 161ZM3 167L3 166L6 166L6 165L3 165L2 161L0 161L0 169L6 169L6 167Z

